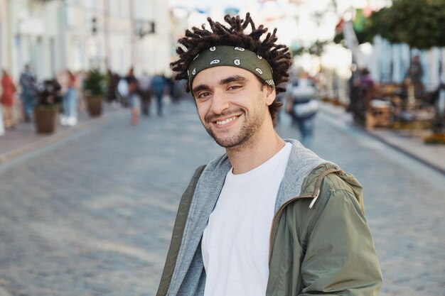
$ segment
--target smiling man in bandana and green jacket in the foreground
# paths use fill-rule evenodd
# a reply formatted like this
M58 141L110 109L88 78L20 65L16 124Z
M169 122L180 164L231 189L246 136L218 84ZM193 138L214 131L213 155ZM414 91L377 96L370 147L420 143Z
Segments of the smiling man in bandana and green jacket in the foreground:
M360 184L274 130L289 49L249 13L225 21L186 31L172 63L227 153L183 194L157 295L377 295Z

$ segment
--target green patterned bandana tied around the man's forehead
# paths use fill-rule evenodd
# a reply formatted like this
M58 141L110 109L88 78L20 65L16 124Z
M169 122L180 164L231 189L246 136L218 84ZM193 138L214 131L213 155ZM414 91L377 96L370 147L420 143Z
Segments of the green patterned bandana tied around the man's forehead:
M272 67L270 67L267 60L244 48L218 45L204 50L193 58L187 70L190 89L192 89L193 80L199 72L218 66L232 66L245 69L275 88Z

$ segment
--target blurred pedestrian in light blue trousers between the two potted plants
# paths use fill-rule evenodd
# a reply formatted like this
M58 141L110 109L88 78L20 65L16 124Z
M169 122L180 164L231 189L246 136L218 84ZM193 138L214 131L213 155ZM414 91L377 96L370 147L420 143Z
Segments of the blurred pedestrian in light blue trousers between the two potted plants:
M65 70L63 80L63 114L60 116L60 124L63 126L77 125L77 79L73 72Z

